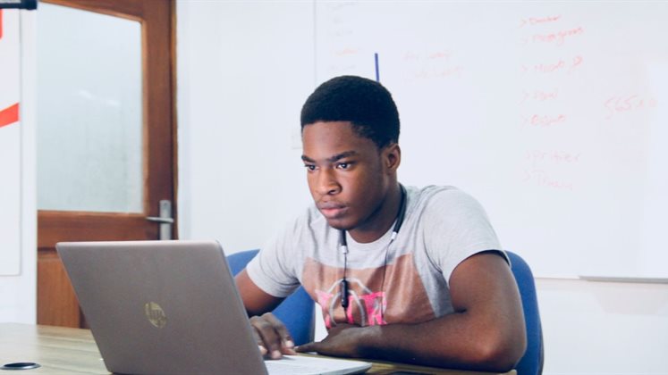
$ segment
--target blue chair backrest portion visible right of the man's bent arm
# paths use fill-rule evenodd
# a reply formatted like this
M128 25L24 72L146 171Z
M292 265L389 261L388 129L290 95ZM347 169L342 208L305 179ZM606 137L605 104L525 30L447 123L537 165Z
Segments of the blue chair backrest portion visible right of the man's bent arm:
M527 326L527 351L515 370L518 375L540 375L543 373L543 329L540 324L534 275L520 255L510 251L506 251L506 254L511 260L512 274L520 288Z

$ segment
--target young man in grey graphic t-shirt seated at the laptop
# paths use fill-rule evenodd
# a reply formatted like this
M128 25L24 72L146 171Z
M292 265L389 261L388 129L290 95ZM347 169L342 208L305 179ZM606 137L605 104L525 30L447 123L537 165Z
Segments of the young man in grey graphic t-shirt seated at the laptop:
M511 370L526 333L507 258L472 197L399 184L399 114L385 87L323 83L302 108L301 135L315 204L236 278L266 355L295 352L266 312L301 284L328 336L297 352Z

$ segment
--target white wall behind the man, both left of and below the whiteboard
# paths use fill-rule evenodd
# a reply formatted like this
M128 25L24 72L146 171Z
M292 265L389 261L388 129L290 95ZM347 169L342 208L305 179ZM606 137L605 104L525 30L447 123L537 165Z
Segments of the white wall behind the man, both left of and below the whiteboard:
M182 238L258 247L309 203L292 137L315 87L315 62L299 57L313 53L312 14L310 2L177 3ZM537 288L545 374L668 373L668 286Z

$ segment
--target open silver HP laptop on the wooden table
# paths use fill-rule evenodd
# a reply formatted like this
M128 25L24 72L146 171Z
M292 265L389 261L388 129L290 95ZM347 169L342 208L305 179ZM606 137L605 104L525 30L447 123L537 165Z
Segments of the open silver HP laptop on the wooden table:
M349 374L371 363L259 353L216 241L56 246L106 369L132 374Z

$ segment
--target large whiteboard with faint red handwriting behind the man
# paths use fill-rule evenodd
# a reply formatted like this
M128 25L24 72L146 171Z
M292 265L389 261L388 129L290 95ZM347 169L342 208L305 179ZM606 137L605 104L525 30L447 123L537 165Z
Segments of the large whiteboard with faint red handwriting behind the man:
M453 185L542 277L665 278L668 3L316 2L317 83L376 78L404 184Z

